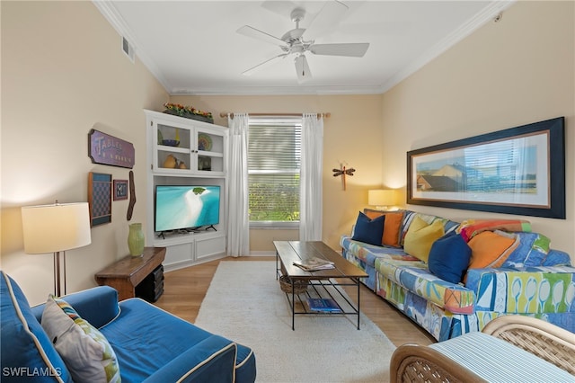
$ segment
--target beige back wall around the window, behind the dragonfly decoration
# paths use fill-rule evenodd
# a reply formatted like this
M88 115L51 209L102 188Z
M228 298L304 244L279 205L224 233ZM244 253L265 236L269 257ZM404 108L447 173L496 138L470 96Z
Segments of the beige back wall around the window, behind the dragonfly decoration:
M384 139L381 125L381 94L307 96L173 96L172 102L211 111L215 123L227 126L219 113L331 112L323 124L323 240L339 249L342 233L349 233L358 210L367 207L367 190L381 188ZM341 177L332 169L340 164L354 167L343 191ZM274 240L297 240L297 230L253 229L252 253L274 251Z

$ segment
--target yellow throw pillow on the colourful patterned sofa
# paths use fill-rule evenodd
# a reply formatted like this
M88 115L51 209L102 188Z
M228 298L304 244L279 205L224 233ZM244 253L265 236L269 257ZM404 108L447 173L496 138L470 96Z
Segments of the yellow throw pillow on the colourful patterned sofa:
M438 219L429 225L423 219L415 217L405 235L403 250L427 263L431 245L444 234L441 220Z

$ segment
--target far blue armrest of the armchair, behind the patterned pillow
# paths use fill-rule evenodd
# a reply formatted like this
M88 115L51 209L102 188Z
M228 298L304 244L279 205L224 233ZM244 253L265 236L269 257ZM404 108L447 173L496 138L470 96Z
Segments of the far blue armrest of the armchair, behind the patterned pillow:
M79 316L96 328L108 324L119 315L118 291L110 286L84 289L61 298L74 307ZM31 308L40 322L44 304Z

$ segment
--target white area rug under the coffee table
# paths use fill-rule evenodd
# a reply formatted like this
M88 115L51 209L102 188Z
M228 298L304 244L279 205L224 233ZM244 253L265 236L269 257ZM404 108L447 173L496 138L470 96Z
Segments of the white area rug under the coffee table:
M252 348L257 381L386 382L394 344L363 314L296 316L275 261L221 262L196 325Z

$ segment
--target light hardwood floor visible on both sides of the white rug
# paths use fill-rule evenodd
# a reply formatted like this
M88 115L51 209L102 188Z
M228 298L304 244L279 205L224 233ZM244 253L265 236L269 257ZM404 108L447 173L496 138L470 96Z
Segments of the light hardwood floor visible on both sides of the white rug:
M193 323L196 320L196 316L198 316L199 306L206 296L209 283L212 281L220 261L250 262L275 260L275 257L261 256L228 257L173 272L166 272L164 274L164 294L155 302L155 305ZM355 297L356 292L357 290L349 291L349 296ZM391 306L383 298L376 296L365 286L361 287L360 299L361 312L378 325L396 346L404 343L425 345L435 343L435 339L431 335L421 330L407 316L404 316L395 307ZM222 307L222 314L225 313L226 308Z

